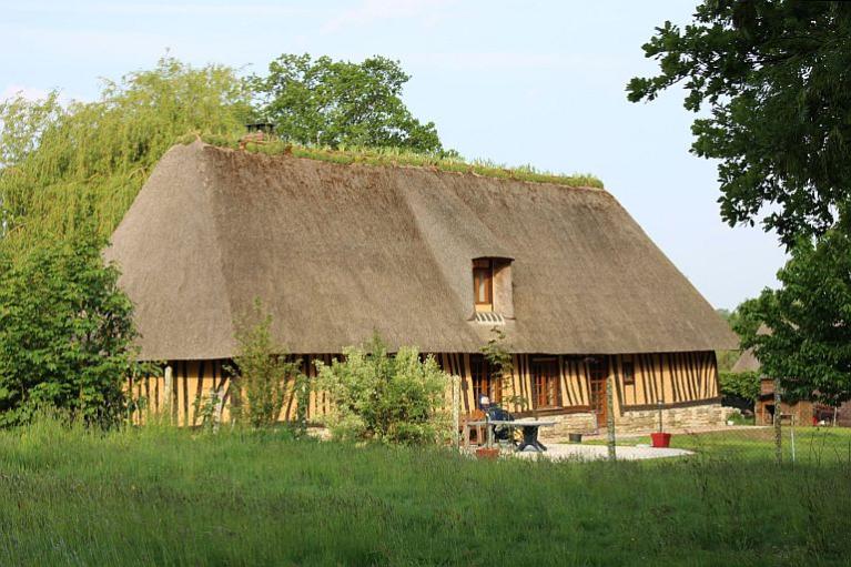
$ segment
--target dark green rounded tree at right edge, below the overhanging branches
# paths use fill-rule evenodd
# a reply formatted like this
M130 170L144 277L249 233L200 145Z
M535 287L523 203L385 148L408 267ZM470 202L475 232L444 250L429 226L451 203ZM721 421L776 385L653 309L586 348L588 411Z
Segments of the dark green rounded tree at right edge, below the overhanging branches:
M851 399L851 236L832 229L803 239L778 272L782 287L739 307L737 332L762 374L791 398L838 406ZM758 333L766 325L769 333Z

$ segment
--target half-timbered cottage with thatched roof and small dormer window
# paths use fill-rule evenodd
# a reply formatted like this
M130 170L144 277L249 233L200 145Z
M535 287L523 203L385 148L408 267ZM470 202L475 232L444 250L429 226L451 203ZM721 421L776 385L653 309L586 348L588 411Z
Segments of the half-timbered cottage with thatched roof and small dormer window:
M660 211L660 214L673 214ZM423 166L341 164L195 141L160 161L107 257L140 357L172 368L182 424L226 391L236 322L260 298L308 376L377 332L460 377L463 409L518 394L563 429L722 423L715 350L737 338L607 191ZM511 379L480 348L496 327ZM136 379L155 407L163 378ZM282 418L292 415L284 409ZM312 392L308 419L331 411Z

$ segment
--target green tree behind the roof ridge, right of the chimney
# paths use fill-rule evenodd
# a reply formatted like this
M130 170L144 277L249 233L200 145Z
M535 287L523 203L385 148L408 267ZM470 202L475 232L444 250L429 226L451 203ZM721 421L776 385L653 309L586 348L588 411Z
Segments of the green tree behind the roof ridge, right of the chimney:
M283 54L252 84L259 113L286 140L439 152L434 123L421 123L399 98L409 79L397 61L383 57L352 63Z

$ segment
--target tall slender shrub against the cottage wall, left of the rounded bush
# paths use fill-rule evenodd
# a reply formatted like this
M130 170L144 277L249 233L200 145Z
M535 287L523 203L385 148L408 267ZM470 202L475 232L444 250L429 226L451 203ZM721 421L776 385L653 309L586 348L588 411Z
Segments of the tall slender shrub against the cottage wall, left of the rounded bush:
M231 415L235 423L251 427L275 425L287 402L296 402L305 386L301 360L290 360L275 344L271 326L272 316L255 300L236 331L239 354L234 358L236 367L231 369ZM295 422L303 424L304 416L296 416Z

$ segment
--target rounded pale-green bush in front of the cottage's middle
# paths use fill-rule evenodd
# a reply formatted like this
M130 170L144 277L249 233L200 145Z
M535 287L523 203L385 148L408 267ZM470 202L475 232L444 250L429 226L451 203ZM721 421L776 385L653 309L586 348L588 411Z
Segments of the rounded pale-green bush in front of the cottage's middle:
M428 444L448 433L445 394L449 377L416 347L395 356L378 337L367 350L347 347L344 361L316 362L318 387L332 398L328 426L335 438Z

